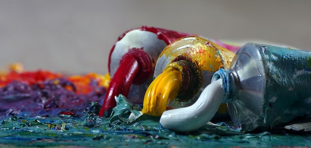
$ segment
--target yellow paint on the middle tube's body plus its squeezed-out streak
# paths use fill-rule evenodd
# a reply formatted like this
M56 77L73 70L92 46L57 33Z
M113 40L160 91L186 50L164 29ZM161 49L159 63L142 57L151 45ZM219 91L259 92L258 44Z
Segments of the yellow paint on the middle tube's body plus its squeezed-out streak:
M209 40L190 36L169 44L159 57L164 56L168 61L175 63L176 57L183 56L195 62L199 71L216 72L220 68L229 69L234 55L232 51ZM182 68L176 68L172 63L149 85L144 97L143 114L161 116L167 104L178 95L182 86ZM226 111L225 106L219 109L219 113Z

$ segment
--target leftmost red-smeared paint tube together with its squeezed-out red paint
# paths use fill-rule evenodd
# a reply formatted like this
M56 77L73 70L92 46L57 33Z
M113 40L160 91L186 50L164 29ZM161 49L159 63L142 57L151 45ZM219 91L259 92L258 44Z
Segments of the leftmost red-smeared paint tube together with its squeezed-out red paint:
M123 94L134 104L142 104L152 81L158 55L166 45L191 34L142 26L126 31L110 50L108 68L111 82L99 116L110 116L114 97Z

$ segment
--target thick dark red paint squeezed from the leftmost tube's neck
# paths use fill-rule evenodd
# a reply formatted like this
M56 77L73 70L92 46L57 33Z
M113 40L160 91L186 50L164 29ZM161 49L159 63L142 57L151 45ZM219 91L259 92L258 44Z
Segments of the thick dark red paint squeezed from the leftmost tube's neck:
M152 57L142 49L130 49L124 54L120 66L111 79L99 116L104 116L105 112L109 114L111 109L116 106L114 97L119 94L128 96L131 84L145 82L153 74L153 70Z

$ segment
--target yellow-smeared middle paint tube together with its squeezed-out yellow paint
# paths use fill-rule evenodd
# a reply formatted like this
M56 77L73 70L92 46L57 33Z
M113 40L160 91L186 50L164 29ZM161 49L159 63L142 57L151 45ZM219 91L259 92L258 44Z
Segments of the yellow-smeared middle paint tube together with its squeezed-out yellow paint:
M146 91L142 112L160 116L167 109L193 104L213 73L229 68L233 56L232 51L197 36L169 44L159 55L155 79Z

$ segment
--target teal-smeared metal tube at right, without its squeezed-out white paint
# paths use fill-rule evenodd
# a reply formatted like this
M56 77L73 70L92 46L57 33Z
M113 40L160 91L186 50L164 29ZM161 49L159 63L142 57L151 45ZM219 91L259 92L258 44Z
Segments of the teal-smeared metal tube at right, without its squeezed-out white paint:
M244 131L270 130L311 115L311 52L248 43L212 81L223 78L229 114Z

